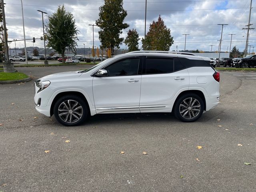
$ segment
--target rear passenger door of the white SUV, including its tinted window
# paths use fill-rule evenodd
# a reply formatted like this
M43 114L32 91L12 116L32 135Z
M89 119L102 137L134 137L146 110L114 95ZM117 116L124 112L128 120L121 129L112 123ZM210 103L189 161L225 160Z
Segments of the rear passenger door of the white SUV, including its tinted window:
M176 57L145 56L140 112L171 112L175 95L188 90L188 70Z

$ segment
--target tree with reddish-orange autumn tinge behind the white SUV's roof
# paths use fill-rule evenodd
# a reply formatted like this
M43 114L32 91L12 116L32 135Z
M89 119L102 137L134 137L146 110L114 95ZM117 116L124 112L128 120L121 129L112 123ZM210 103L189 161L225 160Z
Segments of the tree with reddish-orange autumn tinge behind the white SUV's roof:
M164 21L159 15L158 21L153 21L150 24L145 39L142 38L142 48L143 50L169 51L173 42L170 29L164 25Z

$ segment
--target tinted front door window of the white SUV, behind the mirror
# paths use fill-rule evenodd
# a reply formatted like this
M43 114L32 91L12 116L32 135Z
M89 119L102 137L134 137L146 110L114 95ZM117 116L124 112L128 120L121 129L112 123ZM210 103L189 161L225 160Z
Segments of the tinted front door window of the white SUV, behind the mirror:
M125 59L107 66L105 69L108 71L108 76L136 75L139 63L139 58Z

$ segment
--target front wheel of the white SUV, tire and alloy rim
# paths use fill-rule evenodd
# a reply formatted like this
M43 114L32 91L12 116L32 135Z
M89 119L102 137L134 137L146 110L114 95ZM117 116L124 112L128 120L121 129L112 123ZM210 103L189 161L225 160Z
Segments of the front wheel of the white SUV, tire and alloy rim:
M54 104L54 116L58 122L65 126L78 126L88 116L86 102L76 95L65 95Z

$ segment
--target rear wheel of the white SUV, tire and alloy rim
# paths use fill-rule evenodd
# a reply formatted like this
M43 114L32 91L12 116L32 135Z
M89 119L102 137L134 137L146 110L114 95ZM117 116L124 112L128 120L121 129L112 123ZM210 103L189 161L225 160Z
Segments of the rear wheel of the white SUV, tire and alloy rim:
M174 116L183 122L194 122L204 112L204 102L200 96L187 93L180 96L174 105Z

